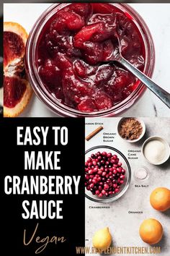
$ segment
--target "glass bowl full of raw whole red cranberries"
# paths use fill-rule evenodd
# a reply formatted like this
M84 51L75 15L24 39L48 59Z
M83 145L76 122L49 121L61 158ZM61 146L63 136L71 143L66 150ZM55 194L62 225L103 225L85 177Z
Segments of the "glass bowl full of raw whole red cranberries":
M96 146L85 153L85 195L95 202L112 202L129 187L131 169L119 150Z

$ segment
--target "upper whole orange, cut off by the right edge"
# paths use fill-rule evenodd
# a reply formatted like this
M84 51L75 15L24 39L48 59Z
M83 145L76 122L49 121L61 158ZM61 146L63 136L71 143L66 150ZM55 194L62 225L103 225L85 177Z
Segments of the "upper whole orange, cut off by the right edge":
M150 203L156 210L164 212L170 208L170 190L166 187L157 187L151 192Z

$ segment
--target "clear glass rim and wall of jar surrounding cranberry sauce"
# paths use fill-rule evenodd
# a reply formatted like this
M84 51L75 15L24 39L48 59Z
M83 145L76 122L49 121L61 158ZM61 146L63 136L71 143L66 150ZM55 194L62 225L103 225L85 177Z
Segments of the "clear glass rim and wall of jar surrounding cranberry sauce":
M108 3L107 3L108 4ZM109 3L112 4L112 3ZM71 117L97 117L97 116L115 116L120 114L122 111L126 111L143 95L146 90L146 86L142 84L138 80L136 84L136 88L131 93L128 98L125 98L124 101L117 103L112 108L103 111L94 111L94 112L83 112L73 109L71 107L66 106L65 104L58 101L53 95L48 92L47 88L43 84L40 79L40 75L38 74L38 68L36 64L36 46L38 39L40 38L40 34L45 27L45 24L50 20L53 15L58 12L58 10L66 7L68 4L53 4L51 5L42 15L39 17L35 25L33 26L29 38L27 40L27 46L25 51L25 67L27 71L27 77L30 81L30 85L32 85L33 90L40 101L45 103L50 110L54 111L55 114L59 116L71 116ZM154 64L155 64L155 51L153 45L153 39L151 37L151 33L138 12L135 11L128 4L112 4L117 9L120 9L120 12L124 12L127 17L130 17L131 20L135 23L136 27L138 27L140 36L143 40L144 48L145 48L145 67L143 72L151 77L153 74Z

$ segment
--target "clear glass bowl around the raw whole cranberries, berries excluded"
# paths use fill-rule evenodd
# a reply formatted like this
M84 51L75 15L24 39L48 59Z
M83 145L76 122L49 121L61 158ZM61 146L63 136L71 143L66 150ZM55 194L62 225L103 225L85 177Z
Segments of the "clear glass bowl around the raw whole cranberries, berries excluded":
M109 197L98 197L97 195L93 195L91 193L91 191L87 190L85 188L85 196L89 199L92 200L94 202L112 202L117 200L118 198L122 197L122 195L125 194L125 192L127 191L129 184L130 184L130 179L131 179L131 168L130 168L130 164L127 160L127 158L125 158L125 155L123 155L120 150L117 150L116 148L112 148L109 146L95 146L93 148L89 148L89 150L86 150L85 152L85 161L87 158L90 157L90 155L93 153L97 153L98 151L105 151L107 153L112 153L112 155L116 154L117 157L120 159L120 162L122 163L122 168L125 168L126 172L125 172L125 179L124 179L124 184L122 184L120 186L120 192L117 192L114 195L110 195Z

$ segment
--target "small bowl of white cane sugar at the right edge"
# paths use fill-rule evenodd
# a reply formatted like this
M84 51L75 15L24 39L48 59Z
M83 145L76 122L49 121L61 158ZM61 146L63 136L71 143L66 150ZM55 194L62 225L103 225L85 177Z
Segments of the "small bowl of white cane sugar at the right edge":
M146 158L149 163L160 165L169 159L169 144L162 137L149 137L143 143L142 153L144 158Z

